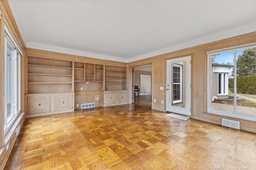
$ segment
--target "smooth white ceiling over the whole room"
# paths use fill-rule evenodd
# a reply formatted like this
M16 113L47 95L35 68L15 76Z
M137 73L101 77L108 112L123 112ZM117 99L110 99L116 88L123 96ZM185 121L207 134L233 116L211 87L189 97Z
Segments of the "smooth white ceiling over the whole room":
M8 0L26 47L113 61L256 31L255 0Z

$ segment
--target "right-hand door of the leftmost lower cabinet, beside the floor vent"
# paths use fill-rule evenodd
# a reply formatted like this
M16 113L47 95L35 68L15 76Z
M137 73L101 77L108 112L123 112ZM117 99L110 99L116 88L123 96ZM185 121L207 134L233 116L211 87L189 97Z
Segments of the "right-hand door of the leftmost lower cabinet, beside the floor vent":
M73 108L72 94L54 94L54 112L64 111Z

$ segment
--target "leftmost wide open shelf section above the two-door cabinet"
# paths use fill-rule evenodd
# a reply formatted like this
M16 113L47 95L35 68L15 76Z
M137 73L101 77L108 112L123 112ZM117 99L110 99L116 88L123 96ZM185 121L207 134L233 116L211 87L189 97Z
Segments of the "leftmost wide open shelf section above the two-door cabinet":
M28 57L28 94L72 92L72 61Z

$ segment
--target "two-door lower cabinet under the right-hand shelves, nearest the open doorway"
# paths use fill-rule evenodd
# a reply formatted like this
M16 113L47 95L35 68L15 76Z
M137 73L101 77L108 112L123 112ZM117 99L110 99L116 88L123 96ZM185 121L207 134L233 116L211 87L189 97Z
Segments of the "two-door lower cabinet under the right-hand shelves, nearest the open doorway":
M105 91L104 92L104 105L114 106L128 103L128 91L127 90L116 90L116 91Z

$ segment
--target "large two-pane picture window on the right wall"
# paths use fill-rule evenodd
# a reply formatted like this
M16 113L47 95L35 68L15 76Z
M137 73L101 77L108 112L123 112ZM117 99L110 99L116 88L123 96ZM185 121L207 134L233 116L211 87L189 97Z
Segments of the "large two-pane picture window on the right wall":
M256 121L256 43L206 54L207 112Z

